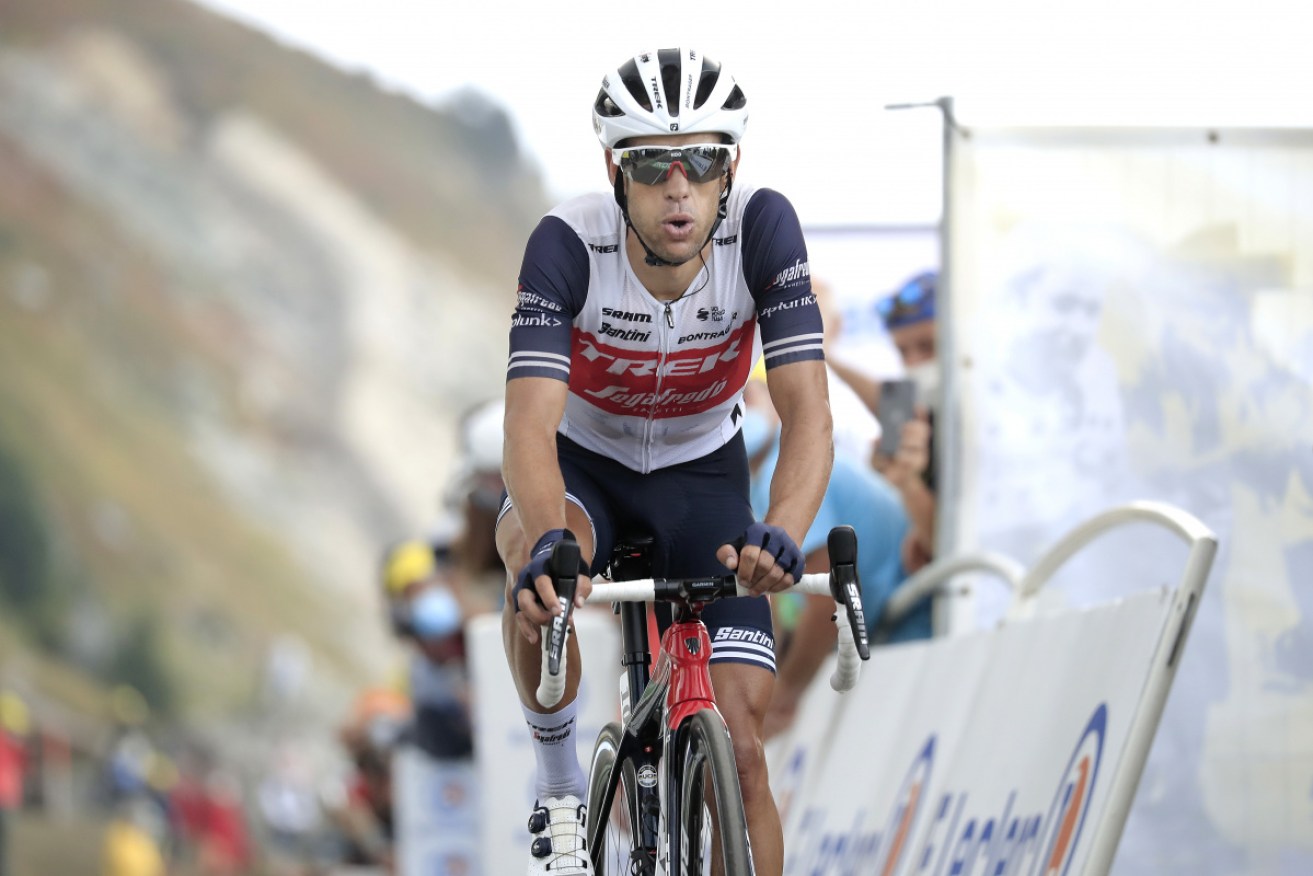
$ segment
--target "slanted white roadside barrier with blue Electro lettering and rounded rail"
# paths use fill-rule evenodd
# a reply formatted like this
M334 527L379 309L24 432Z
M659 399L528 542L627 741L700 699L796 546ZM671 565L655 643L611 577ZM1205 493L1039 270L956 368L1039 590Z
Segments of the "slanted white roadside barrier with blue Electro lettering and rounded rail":
M768 746L786 875L1108 871L1216 541L1137 503L1036 569L1130 520L1191 542L1178 588L874 649L851 693L811 687Z

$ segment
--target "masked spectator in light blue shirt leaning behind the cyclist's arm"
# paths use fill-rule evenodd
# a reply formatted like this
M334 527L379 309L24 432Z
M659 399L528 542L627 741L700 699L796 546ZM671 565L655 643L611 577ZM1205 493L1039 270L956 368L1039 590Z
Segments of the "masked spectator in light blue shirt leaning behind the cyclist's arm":
M743 401L743 441L752 473L752 508L758 511L769 503L771 477L779 461L780 422L760 380L748 381ZM873 633L890 594L906 578L899 546L909 523L897 493L880 474L855 458L836 454L821 510L800 545L806 558L806 571L830 569L826 537L839 524L852 525L857 532L857 575L861 579L868 633ZM834 600L829 596L801 599L802 605L792 634L781 637L779 675L765 720L767 737L784 730L793 721L802 693L835 645L835 626L831 621ZM776 598L775 602L786 600ZM901 619L889 638L909 641L928 638L930 634L927 600Z

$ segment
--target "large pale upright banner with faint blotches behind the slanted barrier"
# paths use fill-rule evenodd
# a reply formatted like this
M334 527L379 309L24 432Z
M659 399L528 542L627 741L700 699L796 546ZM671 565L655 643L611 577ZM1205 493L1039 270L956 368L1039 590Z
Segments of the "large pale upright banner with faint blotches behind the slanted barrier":
M945 546L1028 565L1109 506L1199 517L1217 569L1115 872L1313 872L1313 131L961 134ZM1179 557L1120 532L1044 596L1121 596Z

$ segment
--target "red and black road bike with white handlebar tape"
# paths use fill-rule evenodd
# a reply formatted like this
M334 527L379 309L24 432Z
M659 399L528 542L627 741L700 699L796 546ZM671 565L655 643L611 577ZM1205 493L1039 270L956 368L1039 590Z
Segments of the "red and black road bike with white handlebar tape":
M654 580L650 544L651 538L635 537L618 542L609 580L599 579L587 600L612 603L620 615L622 667L621 721L597 735L588 771L588 854L596 876L654 876L658 865L666 876L701 876L712 872L714 852L726 876L752 876L734 750L716 708L712 642L701 620L712 602L747 590L734 575ZM830 574L802 575L794 590L835 599L839 661L830 684L846 691L856 683L861 661L869 659L856 533L835 527L829 548ZM578 567L579 546L559 542L550 569L563 611L542 637L538 701L546 707L558 703L565 690L563 654ZM650 602L674 608L654 671L649 671Z

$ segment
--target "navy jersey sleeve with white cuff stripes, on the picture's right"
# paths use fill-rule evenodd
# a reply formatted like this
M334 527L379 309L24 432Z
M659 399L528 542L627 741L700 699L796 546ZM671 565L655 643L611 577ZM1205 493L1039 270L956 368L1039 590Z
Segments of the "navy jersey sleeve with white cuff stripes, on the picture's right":
M765 368L823 360L821 309L793 205L772 189L755 192L743 211L742 234L743 277L756 301Z

